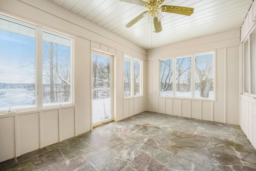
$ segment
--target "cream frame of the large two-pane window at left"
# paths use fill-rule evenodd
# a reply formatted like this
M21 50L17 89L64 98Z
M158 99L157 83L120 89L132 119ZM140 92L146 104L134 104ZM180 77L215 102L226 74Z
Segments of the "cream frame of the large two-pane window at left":
M66 33L62 33L53 29L45 28L35 24L30 24L29 22L14 19L10 16L4 16L0 14L0 19L7 20L8 22L13 22L20 26L26 26L28 28L35 29L35 107L29 108L17 108L8 110L0 110L0 114L9 114L15 112L24 112L31 110L40 110L46 108L54 108L60 106L71 106L74 105L74 37ZM70 39L70 103L68 104L58 104L58 105L47 105L43 106L43 68L42 68L42 59L43 59L43 32L50 33L56 36L64 37Z

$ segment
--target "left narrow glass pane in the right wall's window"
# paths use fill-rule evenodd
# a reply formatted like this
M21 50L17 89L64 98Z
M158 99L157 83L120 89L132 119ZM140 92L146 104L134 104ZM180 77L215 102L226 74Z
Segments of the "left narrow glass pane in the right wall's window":
M244 92L249 93L249 43L244 43Z

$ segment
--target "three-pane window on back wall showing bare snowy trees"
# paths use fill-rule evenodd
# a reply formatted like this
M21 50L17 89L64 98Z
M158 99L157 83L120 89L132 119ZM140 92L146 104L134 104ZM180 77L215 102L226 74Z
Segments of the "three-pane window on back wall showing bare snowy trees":
M160 96L214 99L214 52L160 61Z

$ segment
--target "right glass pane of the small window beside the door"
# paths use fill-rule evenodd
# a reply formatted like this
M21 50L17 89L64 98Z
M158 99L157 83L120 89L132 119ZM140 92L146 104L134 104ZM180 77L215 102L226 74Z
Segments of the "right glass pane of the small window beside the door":
M140 61L134 60L134 96L140 95Z

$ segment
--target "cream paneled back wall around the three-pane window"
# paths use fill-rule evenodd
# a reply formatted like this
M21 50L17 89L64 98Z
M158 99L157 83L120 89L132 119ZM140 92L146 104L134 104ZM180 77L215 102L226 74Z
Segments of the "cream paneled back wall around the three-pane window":
M149 50L147 110L238 125L239 44L237 29ZM159 96L159 60L210 51L215 51L216 57L215 100Z

